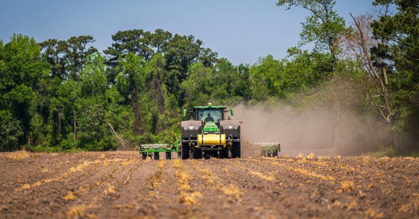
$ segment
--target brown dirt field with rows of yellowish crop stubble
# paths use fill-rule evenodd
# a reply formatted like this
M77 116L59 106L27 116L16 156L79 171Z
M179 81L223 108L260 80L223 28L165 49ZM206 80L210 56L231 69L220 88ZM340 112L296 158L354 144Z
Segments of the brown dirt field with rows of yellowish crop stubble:
M0 218L419 218L418 158L2 153L0 169Z

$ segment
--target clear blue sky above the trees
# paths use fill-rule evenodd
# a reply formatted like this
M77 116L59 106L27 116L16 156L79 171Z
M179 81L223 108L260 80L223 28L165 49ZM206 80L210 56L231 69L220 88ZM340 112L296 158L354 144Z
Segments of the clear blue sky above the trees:
M337 0L338 14L350 21L372 10L373 0ZM0 39L16 34L68 39L90 35L99 51L121 30L163 29L193 35L233 64L251 64L268 54L285 58L297 45L304 9L285 10L277 0L0 0Z

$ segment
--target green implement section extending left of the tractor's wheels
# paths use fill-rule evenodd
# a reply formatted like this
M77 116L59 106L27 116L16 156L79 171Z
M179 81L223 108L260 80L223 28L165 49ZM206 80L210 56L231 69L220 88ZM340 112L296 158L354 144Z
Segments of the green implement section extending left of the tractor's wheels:
M140 145L139 152L142 154L142 159L152 157L154 154L154 159L158 160L160 158L160 152L166 152L166 159L172 159L172 152L179 153L179 144L177 141L171 142L170 144L147 144Z

